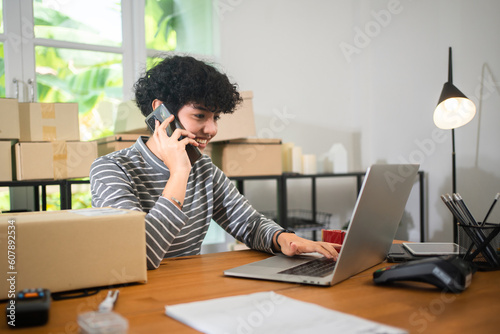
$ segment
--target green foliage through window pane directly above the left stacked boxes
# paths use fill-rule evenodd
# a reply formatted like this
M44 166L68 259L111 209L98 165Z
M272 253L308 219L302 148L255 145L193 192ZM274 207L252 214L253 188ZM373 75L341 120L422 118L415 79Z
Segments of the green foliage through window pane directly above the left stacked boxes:
M109 136L112 122L103 122L98 108L123 99L120 54L37 46L37 93L40 102L78 102L80 137Z

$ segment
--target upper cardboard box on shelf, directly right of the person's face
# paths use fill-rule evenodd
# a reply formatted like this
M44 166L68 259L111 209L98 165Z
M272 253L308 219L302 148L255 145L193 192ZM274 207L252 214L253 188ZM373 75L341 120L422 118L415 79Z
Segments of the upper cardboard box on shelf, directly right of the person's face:
M255 119L253 115L253 93L240 92L243 102L232 114L222 114L217 122L217 135L211 142L255 137Z

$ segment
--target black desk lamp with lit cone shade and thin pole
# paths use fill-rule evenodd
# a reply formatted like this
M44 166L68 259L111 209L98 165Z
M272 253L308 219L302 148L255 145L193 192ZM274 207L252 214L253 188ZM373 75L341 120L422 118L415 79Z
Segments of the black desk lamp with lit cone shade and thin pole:
M464 93L453 85L453 71L451 66L451 47L448 59L448 82L443 86L439 102L434 110L434 124L440 129L451 129L451 163L452 188L457 192L456 162L455 162L455 129L469 123L476 115L476 106ZM457 242L457 221L453 218L453 241Z

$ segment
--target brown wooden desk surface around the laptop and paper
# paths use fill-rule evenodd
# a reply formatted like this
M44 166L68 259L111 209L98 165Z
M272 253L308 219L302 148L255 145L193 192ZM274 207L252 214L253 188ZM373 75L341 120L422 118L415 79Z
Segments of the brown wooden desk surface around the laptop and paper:
M298 300L357 315L411 333L495 333L500 327L500 271L478 272L461 294L441 293L422 284L381 287L372 282L380 264L333 287L260 281L223 276L224 269L269 255L235 251L166 259L148 272L148 283L120 287L115 311L129 321L129 333L196 333L168 317L165 305L260 291L275 291ZM17 329L21 333L77 333L79 313L97 309L107 290L97 295L53 301L49 323ZM5 303L1 304L2 312ZM0 331L7 328L6 321Z

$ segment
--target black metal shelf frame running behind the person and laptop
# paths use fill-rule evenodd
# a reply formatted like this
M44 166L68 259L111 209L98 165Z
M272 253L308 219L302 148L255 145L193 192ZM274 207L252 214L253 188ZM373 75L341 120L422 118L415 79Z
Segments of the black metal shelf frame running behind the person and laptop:
M288 186L287 182L292 179L309 179L311 181L311 217L317 217L317 181L322 178L355 178L356 190L359 193L363 183L365 172L352 172L341 174L281 174L281 175L264 175L264 176L238 176L230 179L236 183L238 190L245 193L245 182L252 180L275 180L277 189L277 213L280 224L287 228L292 226L287 225L288 209ZM419 182L419 206L420 206L420 241L425 241L425 201L424 201L424 172L418 172ZM71 187L74 184L88 184L88 179L77 180L50 180L50 181L10 181L0 182L0 187L33 187L35 211L45 211L47 209L46 202L46 187L59 186L61 210L71 209ZM40 199L42 201L40 206ZM313 220L314 223L314 220Z

